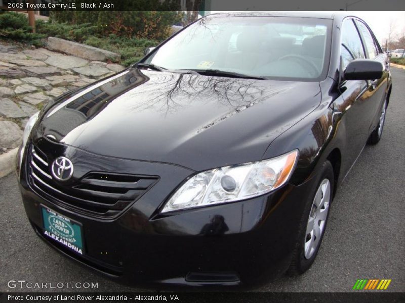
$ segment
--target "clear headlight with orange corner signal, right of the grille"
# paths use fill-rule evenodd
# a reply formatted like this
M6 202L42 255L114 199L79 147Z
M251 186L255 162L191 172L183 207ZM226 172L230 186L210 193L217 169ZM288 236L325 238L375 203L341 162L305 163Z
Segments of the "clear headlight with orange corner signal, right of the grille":
M161 212L227 203L267 193L288 181L297 158L295 149L269 160L198 173L172 195Z

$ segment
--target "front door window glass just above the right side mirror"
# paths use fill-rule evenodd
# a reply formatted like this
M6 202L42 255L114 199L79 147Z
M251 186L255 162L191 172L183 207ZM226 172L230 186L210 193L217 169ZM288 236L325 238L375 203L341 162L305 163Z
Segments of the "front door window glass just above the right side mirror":
M342 26L341 65L343 70L354 59L365 59L365 52L357 28L352 19Z

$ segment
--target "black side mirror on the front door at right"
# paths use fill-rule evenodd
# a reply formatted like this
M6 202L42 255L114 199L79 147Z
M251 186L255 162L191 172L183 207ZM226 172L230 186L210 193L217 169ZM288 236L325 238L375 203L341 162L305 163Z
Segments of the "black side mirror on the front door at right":
M375 80L383 75L384 66L381 62L371 59L356 59L350 62L345 71L345 80Z

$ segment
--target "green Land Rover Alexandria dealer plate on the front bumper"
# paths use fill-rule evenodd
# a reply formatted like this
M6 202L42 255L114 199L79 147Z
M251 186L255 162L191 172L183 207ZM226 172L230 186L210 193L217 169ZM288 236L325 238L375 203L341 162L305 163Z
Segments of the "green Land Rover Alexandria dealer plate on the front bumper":
M41 206L44 235L83 255L82 225Z

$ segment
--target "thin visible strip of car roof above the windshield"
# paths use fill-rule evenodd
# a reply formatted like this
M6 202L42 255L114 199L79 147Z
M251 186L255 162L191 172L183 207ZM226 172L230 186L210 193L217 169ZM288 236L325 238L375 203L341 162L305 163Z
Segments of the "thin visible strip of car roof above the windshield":
M301 17L301 18L319 18L319 19L343 19L352 16L343 11L338 12L232 12L215 13L207 15L204 18L215 17Z

